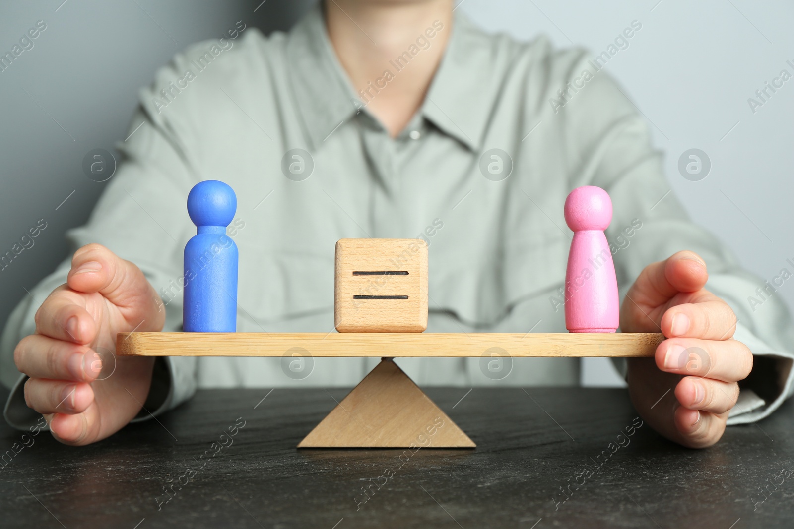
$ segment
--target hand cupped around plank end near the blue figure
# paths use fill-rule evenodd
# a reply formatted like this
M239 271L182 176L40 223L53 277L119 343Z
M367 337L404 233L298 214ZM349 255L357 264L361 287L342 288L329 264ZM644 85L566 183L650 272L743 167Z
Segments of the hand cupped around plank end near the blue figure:
M44 415L56 439L94 443L141 410L154 358L115 357L116 333L161 331L161 305L133 263L99 244L75 252L66 284L36 312L36 333L13 351L17 369L30 377L25 401ZM105 358L97 351L107 351Z

